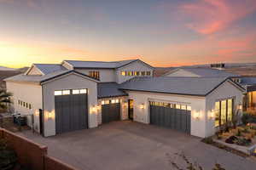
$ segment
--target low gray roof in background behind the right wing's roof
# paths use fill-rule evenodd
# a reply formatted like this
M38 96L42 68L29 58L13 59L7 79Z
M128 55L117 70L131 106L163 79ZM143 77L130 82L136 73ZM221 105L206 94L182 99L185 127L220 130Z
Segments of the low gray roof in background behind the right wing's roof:
M199 77L239 77L239 75L232 74L226 71L220 71L218 69L211 69L211 68L177 68L176 70L167 72L164 76L169 75L176 71L189 71Z

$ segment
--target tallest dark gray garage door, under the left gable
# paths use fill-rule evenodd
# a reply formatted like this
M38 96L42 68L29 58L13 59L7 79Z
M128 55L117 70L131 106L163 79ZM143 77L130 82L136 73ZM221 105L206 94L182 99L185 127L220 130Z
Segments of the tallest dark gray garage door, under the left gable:
M88 128L87 94L74 93L55 95L56 133Z

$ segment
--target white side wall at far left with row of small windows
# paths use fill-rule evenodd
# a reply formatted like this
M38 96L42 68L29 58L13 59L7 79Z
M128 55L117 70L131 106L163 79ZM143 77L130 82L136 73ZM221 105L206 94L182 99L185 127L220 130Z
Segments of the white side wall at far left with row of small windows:
M18 82L6 82L7 91L13 94L13 106L15 113L21 115L33 115L34 116L34 129L39 133L39 115L38 110L43 109L42 105L42 87L39 84L31 83L18 83ZM18 100L26 102L32 105L32 109L28 109L21 105L18 105ZM32 127L32 116L27 117L27 124Z

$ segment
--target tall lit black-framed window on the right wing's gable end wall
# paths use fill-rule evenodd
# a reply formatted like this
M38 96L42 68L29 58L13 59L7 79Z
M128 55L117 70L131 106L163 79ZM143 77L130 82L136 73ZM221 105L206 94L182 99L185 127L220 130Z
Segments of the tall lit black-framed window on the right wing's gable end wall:
M215 102L215 127L232 122L234 99L223 99Z

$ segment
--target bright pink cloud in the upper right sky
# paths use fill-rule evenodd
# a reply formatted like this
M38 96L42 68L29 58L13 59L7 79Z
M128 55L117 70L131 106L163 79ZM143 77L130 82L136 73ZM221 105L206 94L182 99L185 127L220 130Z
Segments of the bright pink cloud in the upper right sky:
M187 26L201 34L212 34L229 27L236 20L256 11L255 0L197 0L179 8L186 18Z

